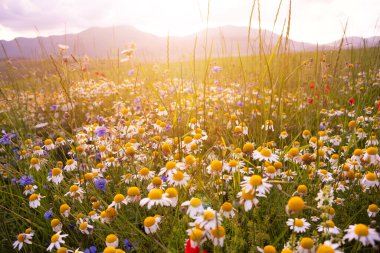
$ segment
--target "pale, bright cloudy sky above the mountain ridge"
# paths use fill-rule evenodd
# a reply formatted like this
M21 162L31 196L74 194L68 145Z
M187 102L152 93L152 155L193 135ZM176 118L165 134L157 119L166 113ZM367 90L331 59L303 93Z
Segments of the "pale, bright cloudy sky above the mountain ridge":
M0 40L131 25L158 36L248 26L254 0L0 0ZM281 33L290 0L260 0L261 27ZM280 5L281 3L281 5ZM279 8L280 6L280 8ZM257 28L258 0L251 26ZM277 20L276 13L279 8ZM290 38L328 43L380 35L380 0L292 0ZM276 20L276 22L275 22Z

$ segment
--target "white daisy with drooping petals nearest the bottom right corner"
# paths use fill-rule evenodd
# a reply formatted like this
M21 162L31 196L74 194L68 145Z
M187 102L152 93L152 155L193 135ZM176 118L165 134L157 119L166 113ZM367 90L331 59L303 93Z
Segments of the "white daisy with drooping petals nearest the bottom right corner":
M359 240L364 246L369 244L375 246L376 241L380 241L379 233L364 224L350 225L345 231L346 234L343 236L343 240Z

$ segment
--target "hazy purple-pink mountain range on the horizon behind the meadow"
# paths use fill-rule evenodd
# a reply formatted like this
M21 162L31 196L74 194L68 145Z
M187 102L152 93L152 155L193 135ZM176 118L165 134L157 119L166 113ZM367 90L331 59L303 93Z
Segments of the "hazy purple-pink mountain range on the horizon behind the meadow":
M162 61L167 57L169 44L169 57L171 60L187 59L195 52L197 58L205 55L207 32L207 52L212 47L212 55L237 56L255 54L259 50L259 31L251 30L248 45L248 28L236 26L223 26L209 28L184 37L158 37L153 34L137 30L132 26L96 27L82 31L78 34L54 35L37 38L16 38L12 41L0 43L0 59L6 58L46 58L58 54L58 44L69 46L69 53L75 56L88 55L96 58L117 58L121 50L128 44L135 43L137 50L135 56L142 61ZM261 31L264 48L267 52L272 50L280 35ZM284 47L282 39L280 47ZM363 40L359 37L346 38L344 45L360 47L364 43L367 47L378 46L380 37ZM339 46L340 41L319 46L321 49L333 49ZM249 47L248 47L249 46ZM291 51L310 51L316 45L289 40ZM195 49L195 50L194 50Z

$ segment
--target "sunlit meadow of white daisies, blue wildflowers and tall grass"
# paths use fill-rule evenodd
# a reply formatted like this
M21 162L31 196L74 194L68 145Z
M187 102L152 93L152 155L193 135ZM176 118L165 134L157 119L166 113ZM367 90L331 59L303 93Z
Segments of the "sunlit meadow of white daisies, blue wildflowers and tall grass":
M0 63L1 252L379 251L379 48L57 52Z

